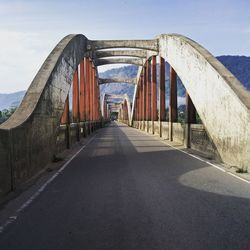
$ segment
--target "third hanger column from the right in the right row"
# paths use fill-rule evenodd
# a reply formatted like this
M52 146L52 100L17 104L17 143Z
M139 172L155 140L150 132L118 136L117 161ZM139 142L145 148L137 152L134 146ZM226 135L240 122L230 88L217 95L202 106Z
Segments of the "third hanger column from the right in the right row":
M162 137L162 121L165 121L165 59L160 57L160 84L159 84L159 134Z

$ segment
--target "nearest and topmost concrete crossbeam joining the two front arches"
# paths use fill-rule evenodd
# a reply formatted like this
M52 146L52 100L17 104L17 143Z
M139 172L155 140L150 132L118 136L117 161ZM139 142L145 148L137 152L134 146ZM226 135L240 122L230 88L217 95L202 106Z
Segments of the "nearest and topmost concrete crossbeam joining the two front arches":
M137 48L158 51L158 39L152 40L93 40L88 41L88 50L112 48Z

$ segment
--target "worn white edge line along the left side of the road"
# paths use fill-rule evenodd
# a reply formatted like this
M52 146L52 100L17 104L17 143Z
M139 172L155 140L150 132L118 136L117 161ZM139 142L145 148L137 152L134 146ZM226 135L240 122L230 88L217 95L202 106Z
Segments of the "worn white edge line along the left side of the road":
M37 198L43 191L44 189L69 165L69 163L84 149L87 147L88 144L90 144L94 139L96 135L93 136L85 145L83 145L67 162L63 164L63 166L56 171L54 175L52 175L27 201L25 201L19 209L16 210L15 215L10 216L4 224L0 226L0 233L2 233L5 228L9 225L12 224L16 219L17 215L23 211L25 208L27 208L32 201Z

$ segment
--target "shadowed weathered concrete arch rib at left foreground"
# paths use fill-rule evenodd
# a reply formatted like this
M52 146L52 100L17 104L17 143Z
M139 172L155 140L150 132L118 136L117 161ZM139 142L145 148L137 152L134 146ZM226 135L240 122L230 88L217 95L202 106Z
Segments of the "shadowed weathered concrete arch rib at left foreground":
M4 178L0 196L10 191L10 168L15 187L52 159L64 102L86 46L83 35L62 39L40 68L17 111L0 126L0 172L4 173L0 177Z

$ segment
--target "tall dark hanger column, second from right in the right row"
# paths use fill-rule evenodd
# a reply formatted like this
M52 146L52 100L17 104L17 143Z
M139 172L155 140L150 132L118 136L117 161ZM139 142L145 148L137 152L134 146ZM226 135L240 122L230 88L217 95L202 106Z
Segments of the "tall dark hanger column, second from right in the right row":
M173 122L178 120L177 106L177 74L170 66L170 98L169 98L169 140L173 141Z

